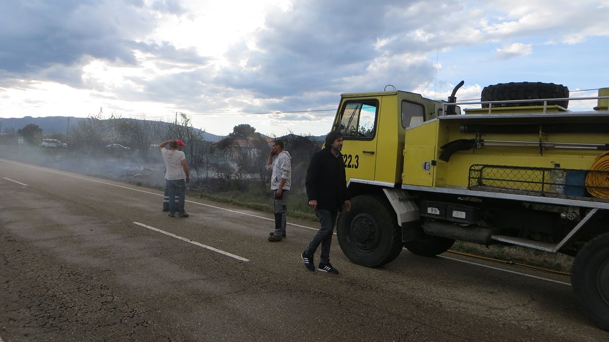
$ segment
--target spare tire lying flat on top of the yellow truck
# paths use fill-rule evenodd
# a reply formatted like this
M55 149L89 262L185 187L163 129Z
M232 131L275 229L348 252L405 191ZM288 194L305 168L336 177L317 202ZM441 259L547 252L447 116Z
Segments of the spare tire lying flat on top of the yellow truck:
M533 100L533 99L565 99L569 97L569 88L554 83L542 82L510 82L498 83L485 86L482 89L481 99L485 101L507 101L507 100ZM567 108L569 100L548 101L547 105L559 105ZM543 106L540 102L510 102L493 103L493 107L512 106ZM488 103L483 103L482 108L488 108Z

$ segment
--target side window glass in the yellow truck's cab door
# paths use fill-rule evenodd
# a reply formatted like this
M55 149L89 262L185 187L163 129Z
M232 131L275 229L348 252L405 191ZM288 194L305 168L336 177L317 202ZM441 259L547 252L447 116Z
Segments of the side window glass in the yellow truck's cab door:
M377 111L376 100L345 103L340 113L340 133L345 138L374 138Z

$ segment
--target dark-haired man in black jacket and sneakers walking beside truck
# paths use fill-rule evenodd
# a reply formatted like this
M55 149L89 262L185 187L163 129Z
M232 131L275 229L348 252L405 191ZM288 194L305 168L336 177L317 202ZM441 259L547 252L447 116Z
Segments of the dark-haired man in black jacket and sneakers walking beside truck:
M330 264L330 244L336 217L343 204L347 211L351 210L351 202L347 194L345 164L342 150L343 136L338 131L331 131L326 136L325 147L316 152L309 162L306 172L306 193L309 206L319 218L321 228L309 243L309 247L301 254L305 267L315 271L313 254L322 245L322 254L317 270L338 274L339 271Z

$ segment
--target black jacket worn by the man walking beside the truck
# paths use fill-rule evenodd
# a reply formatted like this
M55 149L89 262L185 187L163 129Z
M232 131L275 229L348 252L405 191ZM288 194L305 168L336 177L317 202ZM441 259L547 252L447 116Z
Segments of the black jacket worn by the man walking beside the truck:
M317 209L340 211L349 199L342 154L334 156L329 147L315 152L305 184L309 201L317 200Z

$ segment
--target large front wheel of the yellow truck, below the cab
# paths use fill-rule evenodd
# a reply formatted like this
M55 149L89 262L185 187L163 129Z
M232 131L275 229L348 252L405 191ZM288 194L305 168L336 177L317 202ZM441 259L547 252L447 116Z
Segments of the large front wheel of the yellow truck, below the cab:
M338 221L340 249L357 265L379 267L398 257L402 250L396 215L382 197L353 197L351 210L343 211Z

